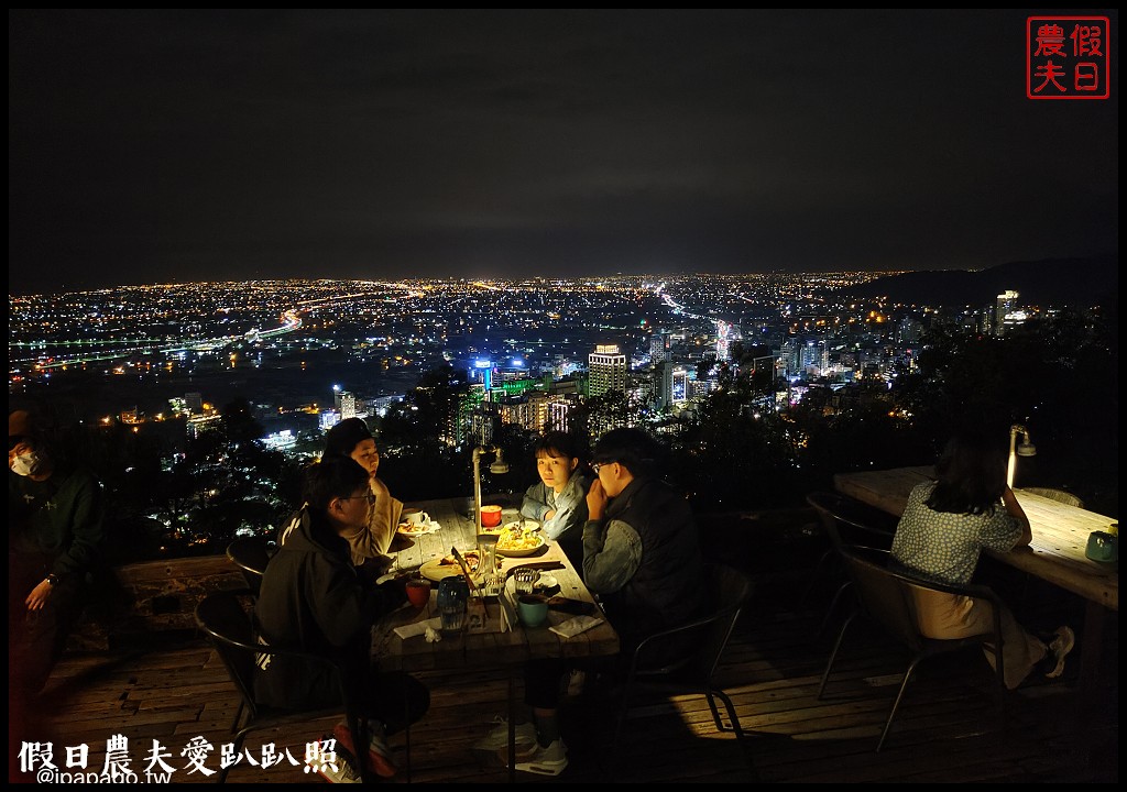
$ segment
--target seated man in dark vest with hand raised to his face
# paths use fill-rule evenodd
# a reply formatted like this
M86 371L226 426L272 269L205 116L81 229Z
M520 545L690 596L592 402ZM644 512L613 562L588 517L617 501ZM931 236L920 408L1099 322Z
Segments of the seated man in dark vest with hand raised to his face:
M692 621L707 605L696 523L684 496L657 478L655 457L655 443L645 431L613 429L600 438L591 465L598 478L587 493L583 572L619 633L620 665L630 662L642 640ZM689 635L663 659L680 659L694 643ZM557 715L566 670L565 660L526 666L532 724L516 729L518 769L558 775L567 767ZM507 738L505 723L474 747L498 750L507 760Z

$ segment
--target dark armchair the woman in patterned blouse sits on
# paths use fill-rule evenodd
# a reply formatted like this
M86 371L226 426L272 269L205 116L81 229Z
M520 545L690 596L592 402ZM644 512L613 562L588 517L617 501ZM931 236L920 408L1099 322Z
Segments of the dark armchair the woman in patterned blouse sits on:
M880 740L877 742L878 751L885 745L885 740L893 726L893 719L896 718L896 711L900 705L900 700L904 697L904 691L907 688L908 680L912 678L912 674L915 671L916 666L929 657L944 652L959 651L962 649L978 649L980 651L983 644L991 646L995 655L995 676L997 677L1000 688L999 701L1002 708L1002 718L1004 723L1005 676L1003 673L1002 661L1002 603L994 591L986 586L948 586L938 582L930 582L899 571L895 571L887 567L890 555L885 551L873 550L870 548L842 546L840 552L845 562L846 572L853 584L853 593L857 595L857 603L853 613L845 620L845 623L842 625L841 632L837 635L837 641L834 643L834 649L829 655L829 660L826 662L826 670L822 675L822 683L818 685L817 697L822 698L822 694L825 692L826 683L829 679L829 673L833 669L834 660L837 658L837 652L845 638L845 632L859 614L864 614L873 622L882 626L888 633L898 639L900 643L912 651L912 659L908 662L907 669L904 671L899 691L896 694L896 700L893 702L893 709L888 713L888 719L885 721L885 728L880 733ZM992 604L994 612L993 629L990 632L970 635L968 638L935 639L924 637L920 632L915 599L911 589L912 586L931 591L961 594L968 597L988 600Z

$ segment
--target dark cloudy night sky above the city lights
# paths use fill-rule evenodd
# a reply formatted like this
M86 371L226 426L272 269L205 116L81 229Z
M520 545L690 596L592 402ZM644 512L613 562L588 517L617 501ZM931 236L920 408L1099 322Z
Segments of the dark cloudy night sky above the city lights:
M1089 12L9 11L9 294L1116 252Z

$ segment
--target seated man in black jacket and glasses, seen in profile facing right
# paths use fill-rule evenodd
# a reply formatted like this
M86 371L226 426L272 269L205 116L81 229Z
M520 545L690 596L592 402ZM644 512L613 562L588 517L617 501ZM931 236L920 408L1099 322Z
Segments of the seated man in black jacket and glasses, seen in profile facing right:
M344 537L367 524L374 496L369 474L348 457L332 457L305 471L307 511L263 576L255 620L263 640L336 661L345 685L363 702L372 735L370 757L376 773L393 775L383 745L415 722L429 706L429 692L402 674L381 674L371 666L371 626L406 602L402 581L363 586ZM320 664L261 656L255 696L264 704L312 709L340 702L336 677ZM352 736L340 723L334 731L352 750ZM352 750L356 755L355 750Z

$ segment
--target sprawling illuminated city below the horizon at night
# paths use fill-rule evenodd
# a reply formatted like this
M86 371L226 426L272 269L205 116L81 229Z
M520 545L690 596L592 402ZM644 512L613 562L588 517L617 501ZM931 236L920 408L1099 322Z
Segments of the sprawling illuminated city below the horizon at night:
M189 545L208 545L190 526L224 499L236 510L263 504L228 533L268 530L292 506L283 474L256 470L261 459L230 466L245 441L299 465L350 417L373 426L387 474L409 497L458 495L479 443L502 443L532 475L521 448L536 434L594 441L632 425L665 436L684 455L682 486L722 507L797 492L819 470L930 454L923 425L940 419L913 395L930 392L919 383L974 393L975 380L996 377L943 384L934 364L921 375L929 337L1020 344L1015 329L1059 312L1014 290L1004 312L996 290L953 309L894 302L880 284L895 275L256 281L9 296L9 403L152 443L150 469L159 455L159 475L188 477L194 495L174 508L145 484L154 502L137 508ZM1022 399L1005 409L1036 424L1027 416L1048 400L1028 388ZM216 429L227 451L202 439ZM119 493L136 498L126 473L142 465L117 464ZM208 484L206 471L238 486ZM749 477L764 487L748 490ZM499 486L518 489L517 479Z

